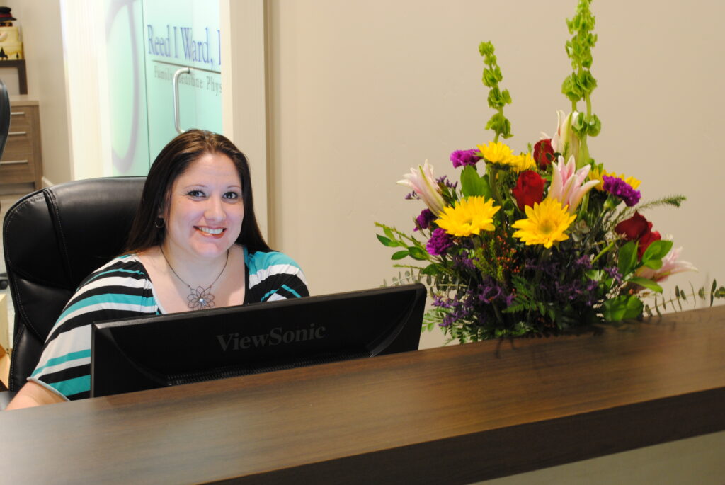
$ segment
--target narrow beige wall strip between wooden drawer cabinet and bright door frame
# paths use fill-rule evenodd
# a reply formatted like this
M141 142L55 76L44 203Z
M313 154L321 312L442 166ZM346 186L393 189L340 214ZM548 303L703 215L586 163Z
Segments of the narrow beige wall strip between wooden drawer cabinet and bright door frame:
M12 8L13 16L21 25L28 94L40 103L44 182L70 181L70 128L60 2L12 0L4 4Z

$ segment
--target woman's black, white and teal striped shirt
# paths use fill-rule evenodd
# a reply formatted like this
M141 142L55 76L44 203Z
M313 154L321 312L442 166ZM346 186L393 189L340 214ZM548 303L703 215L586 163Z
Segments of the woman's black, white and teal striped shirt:
M309 296L305 275L281 252L244 248L244 304ZM135 254L109 261L88 275L51 328L41 359L28 381L65 399L91 391L91 323L160 315L154 286Z

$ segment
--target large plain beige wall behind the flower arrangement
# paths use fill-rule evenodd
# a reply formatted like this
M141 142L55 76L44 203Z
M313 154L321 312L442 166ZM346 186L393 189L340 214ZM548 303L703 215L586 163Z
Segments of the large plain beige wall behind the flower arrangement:
M421 206L395 182L429 159L489 141L480 41L497 48L513 105L510 144L552 134L569 109L565 17L576 0L270 0L270 204L273 244L297 258L314 294L378 286L394 275L374 221L412 228ZM725 4L595 1L592 156L634 175L643 199L685 194L682 209L647 212L699 274L725 283L721 215L725 128L720 62Z

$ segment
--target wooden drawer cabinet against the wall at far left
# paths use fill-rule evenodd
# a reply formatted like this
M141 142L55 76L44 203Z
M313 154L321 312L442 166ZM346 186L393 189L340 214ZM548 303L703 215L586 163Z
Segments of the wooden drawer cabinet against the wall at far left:
M38 101L11 96L10 133L0 160L0 183L32 182L43 187L41 118Z

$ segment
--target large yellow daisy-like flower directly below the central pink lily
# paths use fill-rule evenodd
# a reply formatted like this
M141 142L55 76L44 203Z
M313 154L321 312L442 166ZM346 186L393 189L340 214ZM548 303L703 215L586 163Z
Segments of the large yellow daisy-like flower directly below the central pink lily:
M524 210L527 218L517 220L511 227L518 229L513 237L521 239L526 246L543 244L550 248L554 243L569 239L564 231L576 219L576 214L569 214L568 206L561 207L557 199L544 199L541 204L527 205Z

